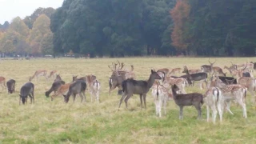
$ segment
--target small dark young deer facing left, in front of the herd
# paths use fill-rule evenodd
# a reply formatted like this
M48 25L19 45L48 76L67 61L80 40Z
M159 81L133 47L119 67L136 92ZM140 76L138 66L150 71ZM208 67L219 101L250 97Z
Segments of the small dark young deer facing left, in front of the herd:
M179 119L183 119L183 106L194 106L198 110L198 118L202 117L201 106L203 104L202 94L177 94L178 86L171 86L173 98L176 105L179 106Z

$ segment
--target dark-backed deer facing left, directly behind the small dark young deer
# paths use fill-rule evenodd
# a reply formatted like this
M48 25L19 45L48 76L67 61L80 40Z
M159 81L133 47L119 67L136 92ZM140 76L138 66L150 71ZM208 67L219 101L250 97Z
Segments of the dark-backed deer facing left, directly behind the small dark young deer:
M197 73L197 74L190 74L190 72L188 71L187 67L184 66L184 70L182 71L182 73L186 73L187 77L190 78L191 82L193 82L193 86L194 86L194 81L200 81L200 89L202 90L202 85L203 82L206 82L207 85L207 74L206 73Z

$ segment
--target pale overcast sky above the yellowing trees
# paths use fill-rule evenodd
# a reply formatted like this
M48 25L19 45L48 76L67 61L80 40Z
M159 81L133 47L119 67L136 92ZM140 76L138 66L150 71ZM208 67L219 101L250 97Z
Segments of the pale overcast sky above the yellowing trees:
M38 7L62 6L63 0L0 0L0 23L10 22L15 17L25 18Z

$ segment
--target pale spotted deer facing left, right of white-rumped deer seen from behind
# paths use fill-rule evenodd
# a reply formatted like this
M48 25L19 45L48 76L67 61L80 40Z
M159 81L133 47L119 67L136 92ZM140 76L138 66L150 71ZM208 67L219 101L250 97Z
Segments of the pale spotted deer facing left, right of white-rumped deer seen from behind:
M222 90L224 101L227 102L226 110L228 110L230 114L233 114L232 111L230 110L230 102L231 100L235 100L236 102L238 102L240 106L242 106L243 117L247 118L246 87L238 84L226 85L218 78L218 76L215 75L213 78L211 78L210 86L216 86L220 88L220 90Z

